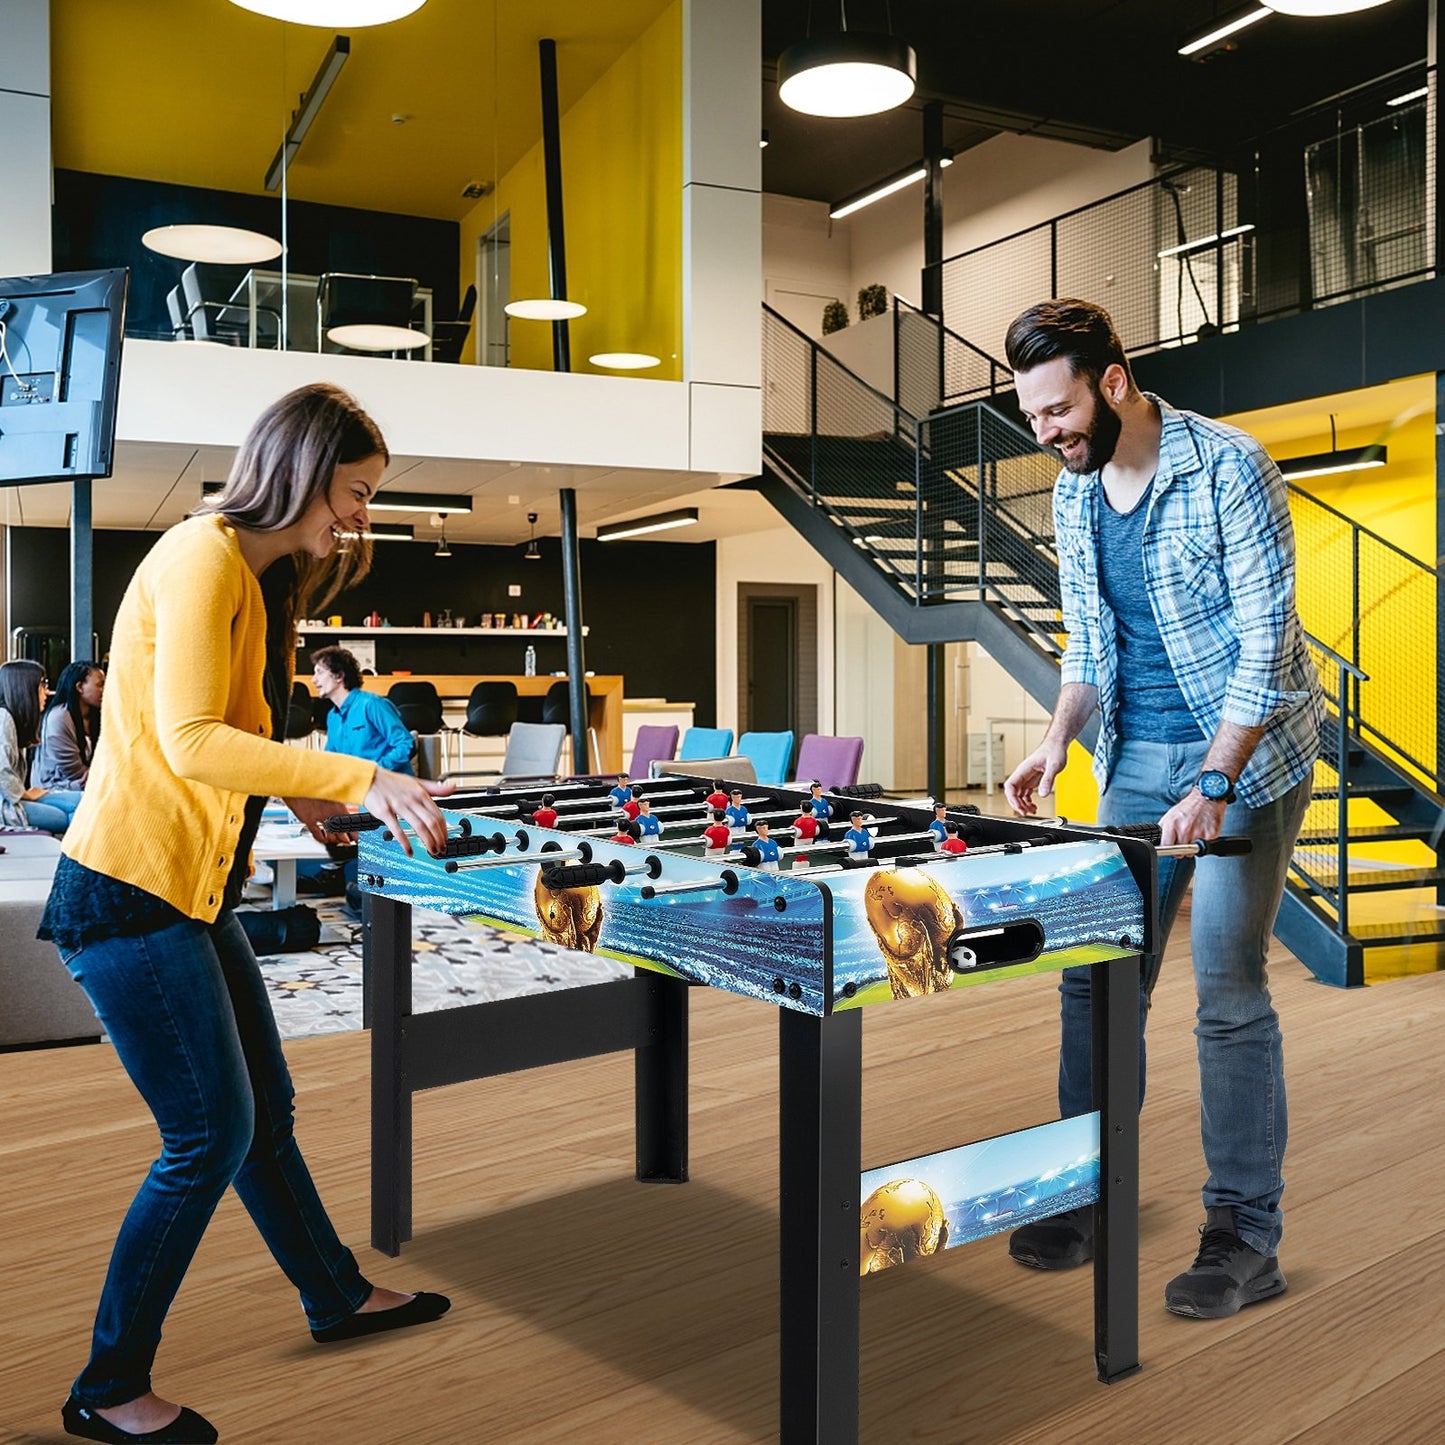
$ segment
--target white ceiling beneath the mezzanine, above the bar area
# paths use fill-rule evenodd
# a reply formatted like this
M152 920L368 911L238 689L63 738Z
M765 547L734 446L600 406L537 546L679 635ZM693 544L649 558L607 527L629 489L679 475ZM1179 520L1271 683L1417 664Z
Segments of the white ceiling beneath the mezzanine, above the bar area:
M159 530L173 526L201 501L205 481L224 481L228 447L118 442L110 478L92 488L95 527ZM527 513L538 513L538 536L561 532L558 491L577 491L578 530L595 536L604 522L695 506L698 523L656 533L660 542L714 542L780 526L776 512L750 490L722 488L711 473L646 471L608 467L542 467L530 462L393 457L381 490L470 496L473 510L447 517L454 542L509 545L527 539ZM71 488L64 483L0 488L0 522L7 526L69 526ZM426 512L379 512L379 522L410 523L419 538L438 527Z

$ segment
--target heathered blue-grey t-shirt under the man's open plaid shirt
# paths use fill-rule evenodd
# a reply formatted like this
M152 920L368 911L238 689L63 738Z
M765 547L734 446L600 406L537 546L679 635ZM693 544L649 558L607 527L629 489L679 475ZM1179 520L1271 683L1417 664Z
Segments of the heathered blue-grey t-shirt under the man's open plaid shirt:
M1204 736L1169 666L1144 579L1144 519L1149 491L1131 512L1116 512L1100 488L1098 590L1118 624L1118 715L1121 738L1198 743Z

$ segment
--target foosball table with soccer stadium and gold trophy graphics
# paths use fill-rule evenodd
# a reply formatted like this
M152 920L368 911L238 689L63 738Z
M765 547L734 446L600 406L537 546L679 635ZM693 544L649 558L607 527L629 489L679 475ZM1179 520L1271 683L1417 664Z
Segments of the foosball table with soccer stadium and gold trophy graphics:
M717 848L704 838L708 780L649 779L630 799L608 782L449 798L439 858L407 857L366 815L332 819L358 834L366 893L373 1244L396 1254L412 1233L412 1094L464 1079L633 1051L637 1179L685 1181L688 990L707 985L777 1010L783 1441L857 1439L861 1276L1068 1208L1097 1211L1098 1377L1137 1370L1139 959L1155 946L1157 831L955 808L952 845L967 851L945 854L931 809L877 789L825 795L831 816L814 832L806 790L747 785L746 818ZM660 835L617 841L621 806L643 799ZM413 907L605 954L634 975L413 1014ZM983 983L1075 965L1091 968L1092 1114L1001 1136L1006 1147L864 1169L866 1009L923 996L945 1006Z

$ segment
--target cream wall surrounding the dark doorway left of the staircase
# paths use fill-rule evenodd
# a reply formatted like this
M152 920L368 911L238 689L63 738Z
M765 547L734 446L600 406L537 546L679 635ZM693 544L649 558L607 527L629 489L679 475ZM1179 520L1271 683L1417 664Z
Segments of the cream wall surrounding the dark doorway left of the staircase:
M792 527L772 527L717 545L717 725L737 728L738 582L818 588L818 731L834 727L834 571Z

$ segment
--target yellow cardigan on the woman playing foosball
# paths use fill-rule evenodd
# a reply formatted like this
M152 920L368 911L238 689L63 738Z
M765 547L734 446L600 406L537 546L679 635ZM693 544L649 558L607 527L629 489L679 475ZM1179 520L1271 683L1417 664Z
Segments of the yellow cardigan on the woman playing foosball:
M77 863L212 922L246 799L360 803L376 764L270 741L266 607L234 529L172 527L116 614L104 725L65 834Z

